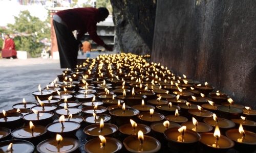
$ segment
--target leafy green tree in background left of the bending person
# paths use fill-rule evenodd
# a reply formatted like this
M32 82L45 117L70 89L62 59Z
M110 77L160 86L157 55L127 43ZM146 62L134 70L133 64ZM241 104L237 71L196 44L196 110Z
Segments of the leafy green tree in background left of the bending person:
M21 11L14 18L15 23L8 24L8 27L17 35L14 38L16 49L26 50L32 57L38 57L44 47L40 40L50 39L49 21L41 21L31 16L29 11Z

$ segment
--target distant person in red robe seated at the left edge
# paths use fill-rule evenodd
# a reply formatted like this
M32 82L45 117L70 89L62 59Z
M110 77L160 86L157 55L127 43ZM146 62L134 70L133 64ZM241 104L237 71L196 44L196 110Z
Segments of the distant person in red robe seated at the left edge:
M6 34L5 41L3 43L3 49L2 49L2 57L3 58L17 58L17 52L15 50L15 43L12 38L10 38L10 35Z

